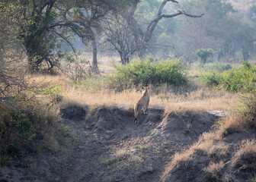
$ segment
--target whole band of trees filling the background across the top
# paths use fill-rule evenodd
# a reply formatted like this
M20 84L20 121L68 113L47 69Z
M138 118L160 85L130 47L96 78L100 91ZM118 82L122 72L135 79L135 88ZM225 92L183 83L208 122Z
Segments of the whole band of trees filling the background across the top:
M247 61L255 50L255 9L245 18L216 0L3 0L0 60L20 52L30 71L50 71L59 66L63 43L76 52L78 36L91 47L94 71L98 49L118 53L123 64L146 55L192 62L201 49L219 61Z

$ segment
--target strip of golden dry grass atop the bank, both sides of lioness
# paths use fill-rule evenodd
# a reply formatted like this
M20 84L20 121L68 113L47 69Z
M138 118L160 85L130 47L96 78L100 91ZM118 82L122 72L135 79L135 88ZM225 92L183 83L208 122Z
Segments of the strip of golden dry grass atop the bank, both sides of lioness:
M168 92L168 91L167 91ZM85 90L67 86L65 89L66 100L72 100L80 104L105 106L126 106L133 108L134 103L140 98L141 93L135 89L124 90L121 93L115 93L111 90ZM199 89L189 93L187 96L182 94L167 93L154 94L150 96L150 107L165 108L165 111L208 111L208 110L229 110L234 105L235 94L215 93L210 90Z

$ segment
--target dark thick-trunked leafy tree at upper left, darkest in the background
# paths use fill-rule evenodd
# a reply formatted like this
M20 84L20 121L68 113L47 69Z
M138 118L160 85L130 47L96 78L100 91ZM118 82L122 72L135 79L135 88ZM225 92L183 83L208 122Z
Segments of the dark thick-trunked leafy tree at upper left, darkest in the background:
M56 49L58 37L55 20L58 14L54 10L56 0L49 1L18 1L15 6L21 6L21 17L24 24L20 27L18 38L27 54L30 71L39 71L43 61L49 70L53 62L53 50ZM57 33L60 35L60 33Z

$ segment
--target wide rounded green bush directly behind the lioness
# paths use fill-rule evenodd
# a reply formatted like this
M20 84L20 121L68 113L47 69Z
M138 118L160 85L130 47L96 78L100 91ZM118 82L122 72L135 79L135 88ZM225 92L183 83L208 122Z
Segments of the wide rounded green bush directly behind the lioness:
M110 87L115 89L127 89L139 84L181 86L187 83L187 67L179 60L155 62L148 58L117 66L109 81Z

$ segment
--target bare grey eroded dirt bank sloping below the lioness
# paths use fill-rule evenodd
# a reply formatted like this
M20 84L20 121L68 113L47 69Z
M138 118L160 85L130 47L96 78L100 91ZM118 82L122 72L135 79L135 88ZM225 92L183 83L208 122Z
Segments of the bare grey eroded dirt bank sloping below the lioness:
M219 118L216 112L151 108L135 124L126 108L88 112L74 106L61 112L63 126L75 136L66 145L72 149L40 154L30 168L4 167L0 181L159 181L174 153L212 130Z

